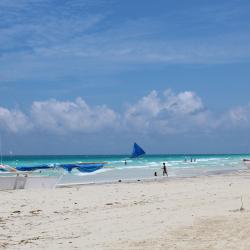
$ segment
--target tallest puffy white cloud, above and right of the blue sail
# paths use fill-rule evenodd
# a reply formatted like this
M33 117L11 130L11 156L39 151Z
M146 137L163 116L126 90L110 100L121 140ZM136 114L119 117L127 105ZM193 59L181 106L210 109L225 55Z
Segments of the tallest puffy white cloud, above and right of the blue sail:
M209 112L194 92L175 94L166 90L163 95L152 91L128 108L125 121L138 130L148 129L160 133L177 133L207 123Z

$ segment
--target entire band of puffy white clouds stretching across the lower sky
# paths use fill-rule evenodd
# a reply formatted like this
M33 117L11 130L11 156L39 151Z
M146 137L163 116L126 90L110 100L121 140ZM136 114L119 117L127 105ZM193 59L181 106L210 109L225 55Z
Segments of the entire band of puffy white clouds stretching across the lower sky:
M27 114L0 107L0 129L13 133L31 130L55 134L95 133L115 129L178 134L250 127L249 124L250 104L216 115L205 109L202 99L192 91L158 93L153 90L121 113L106 105L90 106L80 97L75 101L35 101Z

